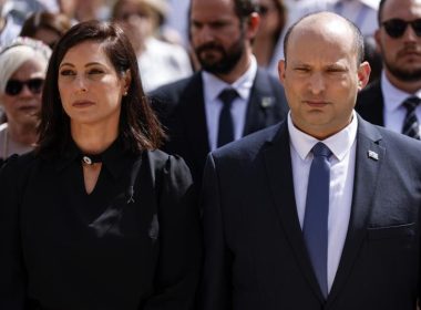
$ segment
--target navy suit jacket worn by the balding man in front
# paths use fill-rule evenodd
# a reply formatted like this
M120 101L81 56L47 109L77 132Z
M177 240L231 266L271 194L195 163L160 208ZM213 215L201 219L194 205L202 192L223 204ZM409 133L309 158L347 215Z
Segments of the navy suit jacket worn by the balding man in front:
M327 300L297 216L287 122L209 155L204 309L415 309L421 144L358 122L351 218Z

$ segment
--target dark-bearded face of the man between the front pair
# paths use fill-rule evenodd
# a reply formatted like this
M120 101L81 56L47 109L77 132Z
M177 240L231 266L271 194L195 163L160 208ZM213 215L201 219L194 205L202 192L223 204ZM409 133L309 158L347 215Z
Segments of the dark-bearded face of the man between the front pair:
M232 0L193 0L191 41L205 71L226 74L245 54L246 34Z

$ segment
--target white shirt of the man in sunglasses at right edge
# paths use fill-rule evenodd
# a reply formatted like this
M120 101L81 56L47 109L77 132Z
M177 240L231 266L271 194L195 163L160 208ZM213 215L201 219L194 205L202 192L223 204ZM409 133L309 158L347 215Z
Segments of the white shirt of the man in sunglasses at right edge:
M394 87L386 76L384 71L381 73L381 93L383 95L383 120L384 127L397 133L402 133L404 116L407 108L402 105L403 101L409 96L421 97L421 90L415 94L409 94ZM421 106L415 110L418 121L421 125ZM420 126L421 130L421 126Z

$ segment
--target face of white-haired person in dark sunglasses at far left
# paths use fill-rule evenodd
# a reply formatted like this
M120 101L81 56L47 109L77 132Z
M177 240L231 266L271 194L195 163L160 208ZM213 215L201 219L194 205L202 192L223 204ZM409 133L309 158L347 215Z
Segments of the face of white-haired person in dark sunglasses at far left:
M9 79L6 92L0 94L8 123L34 126L41 108L42 83L47 62L24 62Z

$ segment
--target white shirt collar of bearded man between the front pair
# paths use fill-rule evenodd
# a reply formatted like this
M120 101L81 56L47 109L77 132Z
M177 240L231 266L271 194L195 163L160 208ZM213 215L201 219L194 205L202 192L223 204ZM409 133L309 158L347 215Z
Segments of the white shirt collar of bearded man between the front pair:
M255 81L257 73L257 61L254 55L250 56L250 65L247 71L239 76L233 84L228 84L223 80L218 79L216 75L202 71L202 79L204 84L204 91L206 94L206 99L208 101L215 101L220 92L227 87L235 89L238 95L243 100L247 100Z

